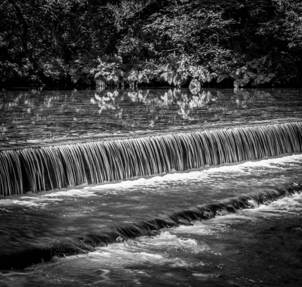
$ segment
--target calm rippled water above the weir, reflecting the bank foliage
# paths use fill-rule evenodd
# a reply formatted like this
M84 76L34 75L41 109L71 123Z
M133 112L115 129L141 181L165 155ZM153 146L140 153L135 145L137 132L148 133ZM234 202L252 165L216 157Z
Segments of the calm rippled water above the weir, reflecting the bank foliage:
M0 149L302 119L302 90L0 91Z

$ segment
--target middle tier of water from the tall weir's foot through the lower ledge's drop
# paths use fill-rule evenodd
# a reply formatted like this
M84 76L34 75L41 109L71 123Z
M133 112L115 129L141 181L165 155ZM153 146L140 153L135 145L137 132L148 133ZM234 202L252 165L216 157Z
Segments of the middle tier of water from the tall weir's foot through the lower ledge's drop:
M258 208L301 189L302 155L0 201L2 269L83 254L163 228ZM22 220L20 220L22 218Z

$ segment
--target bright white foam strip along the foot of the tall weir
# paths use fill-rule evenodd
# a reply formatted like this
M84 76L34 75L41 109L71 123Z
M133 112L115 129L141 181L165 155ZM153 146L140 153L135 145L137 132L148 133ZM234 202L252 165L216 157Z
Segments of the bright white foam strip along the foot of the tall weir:
M248 161L235 165L224 165L211 167L208 169L195 170L183 173L169 173L163 176L154 176L151 178L139 178L126 180L116 183L98 184L95 186L85 186L70 188L56 192L34 194L33 196L14 197L13 199L0 200L0 206L20 205L24 207L43 207L47 202L51 204L62 200L74 198L88 198L95 196L115 195L117 192L123 192L133 189L147 190L157 188L157 192L164 186L171 184L193 185L200 182L213 182L217 179L229 178L238 175L251 175L255 173L264 173L266 170L284 170L293 168L301 164L302 154L294 154L279 158L264 159L259 161Z

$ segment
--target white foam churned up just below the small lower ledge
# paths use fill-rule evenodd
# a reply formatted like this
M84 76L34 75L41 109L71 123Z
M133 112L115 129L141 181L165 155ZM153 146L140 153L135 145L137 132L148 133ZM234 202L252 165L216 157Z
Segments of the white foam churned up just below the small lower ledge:
M298 208L298 209L297 209ZM295 193L292 196L284 197L269 205L261 205L259 208L238 211L237 213L225 216L217 216L207 221L194 221L191 226L180 225L176 228L163 230L157 236L142 236L130 239L122 243L110 244L105 247L99 247L94 252L85 255L70 256L67 260L85 260L102 261L108 264L128 265L133 261L150 261L161 264L171 261L169 252L178 252L179 250L188 253L213 252L208 244L201 244L194 238L187 238L180 234L213 235L221 234L223 230L229 229L230 225L238 222L254 222L255 216L259 212L286 210L302 210L302 193ZM262 214L263 215L263 214ZM146 250L148 252L146 252ZM135 256L133 256L135 254ZM81 259L81 260L82 260ZM65 259L63 259L65 260ZM177 262L180 263L180 262Z

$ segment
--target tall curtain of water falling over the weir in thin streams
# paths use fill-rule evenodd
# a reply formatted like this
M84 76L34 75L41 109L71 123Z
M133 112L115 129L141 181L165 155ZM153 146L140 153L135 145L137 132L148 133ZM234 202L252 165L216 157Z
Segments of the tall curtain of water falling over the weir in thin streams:
M302 152L302 123L94 141L0 152L0 195L184 171Z

